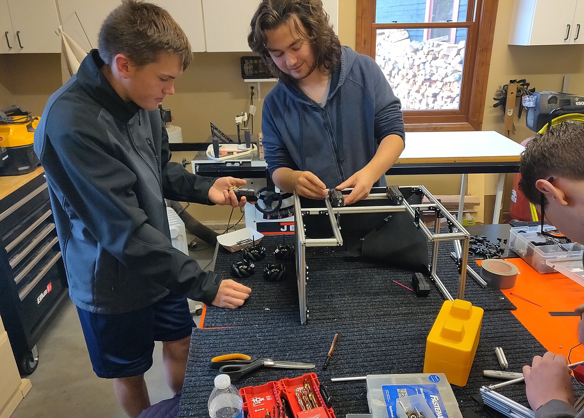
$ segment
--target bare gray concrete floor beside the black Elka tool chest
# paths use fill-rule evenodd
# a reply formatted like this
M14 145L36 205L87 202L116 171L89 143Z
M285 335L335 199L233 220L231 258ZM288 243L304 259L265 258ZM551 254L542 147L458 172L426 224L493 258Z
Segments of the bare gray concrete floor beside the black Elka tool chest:
M205 267L213 260L215 247L204 241L191 255ZM206 248L208 247L208 248ZM211 265L208 268L212 268ZM192 308L198 303L190 302ZM194 310L194 309L192 309ZM194 317L199 324L200 317ZM39 342L39 366L29 378L32 389L20 402L12 418L84 417L125 418L113 393L112 382L93 373L77 310L69 298L64 299L48 322ZM154 365L145 379L154 404L172 398L162 372L162 344L156 343Z

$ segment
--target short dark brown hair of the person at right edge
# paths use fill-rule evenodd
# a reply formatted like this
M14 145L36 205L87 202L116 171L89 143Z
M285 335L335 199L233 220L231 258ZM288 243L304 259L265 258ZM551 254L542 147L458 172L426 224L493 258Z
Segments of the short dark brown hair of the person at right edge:
M584 180L584 123L566 120L537 134L521 153L519 189L531 203L546 204L536 181L553 176Z

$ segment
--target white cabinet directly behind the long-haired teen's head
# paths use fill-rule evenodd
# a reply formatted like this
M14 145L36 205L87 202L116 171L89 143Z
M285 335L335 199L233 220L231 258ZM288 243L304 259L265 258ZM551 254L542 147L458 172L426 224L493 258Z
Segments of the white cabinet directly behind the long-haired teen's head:
M259 0L202 0L207 52L250 52L249 23ZM584 0L583 0L584 1ZM333 27L338 27L338 0L323 0Z

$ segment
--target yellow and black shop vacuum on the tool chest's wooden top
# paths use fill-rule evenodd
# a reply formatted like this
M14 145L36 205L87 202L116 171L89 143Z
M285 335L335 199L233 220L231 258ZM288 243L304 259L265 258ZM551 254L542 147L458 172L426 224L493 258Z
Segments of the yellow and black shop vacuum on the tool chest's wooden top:
M39 118L18 106L0 109L0 175L27 174L39 167L33 150Z

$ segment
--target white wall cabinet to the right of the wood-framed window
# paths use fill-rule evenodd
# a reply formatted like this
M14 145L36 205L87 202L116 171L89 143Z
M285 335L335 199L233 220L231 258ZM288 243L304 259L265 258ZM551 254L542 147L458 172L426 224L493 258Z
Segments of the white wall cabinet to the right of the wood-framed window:
M509 44L583 43L583 26L584 0L515 0Z

